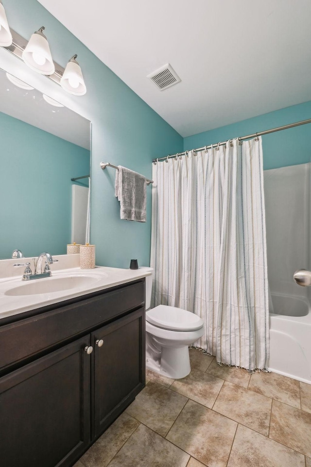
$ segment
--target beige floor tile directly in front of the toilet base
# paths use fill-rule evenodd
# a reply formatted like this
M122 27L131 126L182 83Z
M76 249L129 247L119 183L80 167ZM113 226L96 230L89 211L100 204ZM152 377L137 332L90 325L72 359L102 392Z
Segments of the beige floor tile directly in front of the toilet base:
M211 409L223 384L223 379L193 368L185 378L175 379L171 389Z

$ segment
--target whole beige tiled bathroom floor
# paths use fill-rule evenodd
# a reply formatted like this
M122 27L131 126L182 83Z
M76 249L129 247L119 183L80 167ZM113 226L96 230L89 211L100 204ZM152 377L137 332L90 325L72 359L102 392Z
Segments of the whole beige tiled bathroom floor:
M311 467L311 385L217 365L147 371L146 387L74 467Z

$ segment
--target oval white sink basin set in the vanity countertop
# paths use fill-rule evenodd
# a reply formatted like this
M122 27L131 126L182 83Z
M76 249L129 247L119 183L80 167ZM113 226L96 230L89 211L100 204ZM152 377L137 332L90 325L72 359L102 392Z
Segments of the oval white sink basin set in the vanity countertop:
M22 285L12 287L4 292L4 295L20 296L39 293L52 293L71 288L88 287L100 279L97 275L68 275L65 277L47 277L24 282Z

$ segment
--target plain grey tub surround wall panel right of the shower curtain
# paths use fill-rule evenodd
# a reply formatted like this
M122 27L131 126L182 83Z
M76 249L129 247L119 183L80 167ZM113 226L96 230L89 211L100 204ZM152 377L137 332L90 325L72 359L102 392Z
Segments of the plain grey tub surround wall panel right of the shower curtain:
M310 269L311 266L311 163L264 170L263 178L271 293L306 298L309 287L298 286L293 274L297 269ZM284 309L281 314L294 312L293 305L288 305L291 309Z

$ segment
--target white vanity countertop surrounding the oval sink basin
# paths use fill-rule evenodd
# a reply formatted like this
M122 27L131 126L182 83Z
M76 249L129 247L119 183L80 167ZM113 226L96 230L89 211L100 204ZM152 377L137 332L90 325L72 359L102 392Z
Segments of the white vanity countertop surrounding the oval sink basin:
M24 258L23 258L24 260ZM51 268L52 269L52 268ZM8 316L13 316L25 311L40 308L42 306L51 305L69 300L75 297L86 295L88 293L103 290L105 288L118 286L127 282L132 282L141 279L151 274L147 269L118 269L106 268L97 266L94 269L80 269L79 267L69 269L58 269L52 271L52 276L44 279L34 279L31 281L22 281L23 269L19 269L19 276L2 277L0 279L0 319ZM79 284L78 287L67 288L66 290L57 290L46 293L32 293L21 295L7 295L8 291L15 287L27 287L28 284L48 281L57 278L69 278L72 276L89 277L86 284ZM83 280L82 280L83 282ZM48 287L48 286L46 286Z

